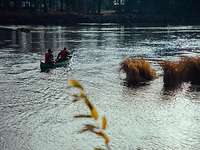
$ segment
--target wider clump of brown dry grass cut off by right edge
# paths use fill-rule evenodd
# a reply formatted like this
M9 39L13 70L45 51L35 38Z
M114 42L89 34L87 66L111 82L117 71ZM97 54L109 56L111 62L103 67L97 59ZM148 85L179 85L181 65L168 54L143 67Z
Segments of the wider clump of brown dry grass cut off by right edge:
M176 86L182 82L200 84L200 57L183 57L179 61L162 61L165 86Z

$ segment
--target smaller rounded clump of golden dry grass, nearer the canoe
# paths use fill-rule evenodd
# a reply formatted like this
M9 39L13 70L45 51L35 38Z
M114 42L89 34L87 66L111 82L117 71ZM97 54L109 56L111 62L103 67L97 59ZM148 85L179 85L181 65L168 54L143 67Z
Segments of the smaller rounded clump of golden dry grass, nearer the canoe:
M126 58L120 64L120 70L126 73L128 84L137 84L156 78L156 71L150 63L143 58Z

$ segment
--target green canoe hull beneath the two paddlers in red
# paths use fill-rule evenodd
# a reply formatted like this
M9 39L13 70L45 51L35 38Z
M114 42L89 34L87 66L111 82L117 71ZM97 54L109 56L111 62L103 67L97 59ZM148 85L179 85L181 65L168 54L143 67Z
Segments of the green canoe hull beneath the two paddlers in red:
M40 69L41 72L48 72L50 69L58 68L58 67L65 67L70 60L71 57L66 59L65 61L56 62L54 65L46 64L44 62L40 62Z

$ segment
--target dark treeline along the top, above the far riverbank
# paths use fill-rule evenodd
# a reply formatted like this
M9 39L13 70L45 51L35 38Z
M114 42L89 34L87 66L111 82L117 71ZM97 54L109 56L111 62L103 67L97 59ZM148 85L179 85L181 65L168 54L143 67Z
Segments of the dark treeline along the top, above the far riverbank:
M200 0L0 0L4 10L74 12L83 14L115 10L118 13L198 15Z

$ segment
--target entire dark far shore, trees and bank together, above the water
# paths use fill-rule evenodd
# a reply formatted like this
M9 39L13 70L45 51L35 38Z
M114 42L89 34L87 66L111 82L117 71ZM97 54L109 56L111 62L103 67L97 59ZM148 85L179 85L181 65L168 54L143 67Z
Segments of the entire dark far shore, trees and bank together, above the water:
M200 0L0 0L0 8L1 24L200 23Z

